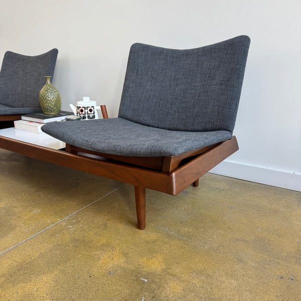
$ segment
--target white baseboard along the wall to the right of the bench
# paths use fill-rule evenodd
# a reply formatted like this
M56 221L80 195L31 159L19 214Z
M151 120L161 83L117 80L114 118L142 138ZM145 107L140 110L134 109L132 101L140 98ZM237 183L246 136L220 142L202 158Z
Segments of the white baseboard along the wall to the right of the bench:
M223 161L209 173L301 192L301 175Z

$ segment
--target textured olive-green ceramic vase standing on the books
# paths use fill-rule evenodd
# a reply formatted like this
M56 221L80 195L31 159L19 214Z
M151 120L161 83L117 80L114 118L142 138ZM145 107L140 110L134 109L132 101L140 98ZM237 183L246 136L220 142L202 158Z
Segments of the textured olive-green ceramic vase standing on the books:
M58 114L61 106L61 95L57 88L50 82L51 76L45 76L46 84L39 94L40 106L44 114Z

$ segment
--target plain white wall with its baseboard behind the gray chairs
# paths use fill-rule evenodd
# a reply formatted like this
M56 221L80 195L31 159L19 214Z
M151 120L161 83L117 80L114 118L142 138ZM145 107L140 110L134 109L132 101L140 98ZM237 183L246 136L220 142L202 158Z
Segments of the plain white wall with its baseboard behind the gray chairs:
M224 174L256 181L276 171L277 181L258 182L301 190L300 20L299 0L0 0L0 59L58 48L62 108L90 96L114 117L131 44L188 49L248 35L240 150ZM258 167L255 177L247 166Z

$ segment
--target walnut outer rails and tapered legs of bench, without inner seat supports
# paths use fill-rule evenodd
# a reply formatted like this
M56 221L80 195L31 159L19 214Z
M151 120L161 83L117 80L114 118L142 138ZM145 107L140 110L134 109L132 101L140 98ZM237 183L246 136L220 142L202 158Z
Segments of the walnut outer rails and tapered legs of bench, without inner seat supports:
M196 158L193 157L170 174L128 166L127 163L76 155L73 154L77 153L76 149L69 145L66 146L66 152L0 136L0 147L31 158L134 185L138 228L144 229L145 188L177 195L192 183L196 185L201 176L236 152L238 144L233 136L231 140L221 142ZM171 162L172 159L168 161Z

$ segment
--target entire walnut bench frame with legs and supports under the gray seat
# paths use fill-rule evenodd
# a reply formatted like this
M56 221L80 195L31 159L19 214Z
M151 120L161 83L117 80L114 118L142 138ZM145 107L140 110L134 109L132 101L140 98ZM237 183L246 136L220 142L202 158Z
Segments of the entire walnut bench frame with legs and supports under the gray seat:
M0 147L134 186L138 229L145 228L145 188L177 195L238 150L236 137L172 157L126 157L90 152L66 144L52 149L0 136ZM88 157L97 155L99 159Z

